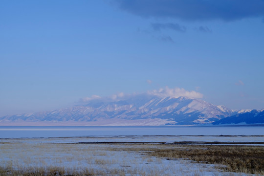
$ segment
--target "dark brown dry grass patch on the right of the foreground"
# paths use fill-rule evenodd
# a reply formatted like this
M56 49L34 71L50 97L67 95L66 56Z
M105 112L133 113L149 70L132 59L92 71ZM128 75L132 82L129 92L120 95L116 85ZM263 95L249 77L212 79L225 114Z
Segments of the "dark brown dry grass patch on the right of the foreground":
M228 172L264 174L264 147L189 145L186 149L154 149L151 156L167 159L188 158L202 163L225 165L221 169Z

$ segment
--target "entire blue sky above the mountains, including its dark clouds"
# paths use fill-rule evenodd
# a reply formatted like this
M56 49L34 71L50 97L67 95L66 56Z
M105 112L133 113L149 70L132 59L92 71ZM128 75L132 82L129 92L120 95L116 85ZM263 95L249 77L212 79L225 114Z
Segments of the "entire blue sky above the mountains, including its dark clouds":
M160 88L264 109L263 68L264 0L0 2L0 116Z

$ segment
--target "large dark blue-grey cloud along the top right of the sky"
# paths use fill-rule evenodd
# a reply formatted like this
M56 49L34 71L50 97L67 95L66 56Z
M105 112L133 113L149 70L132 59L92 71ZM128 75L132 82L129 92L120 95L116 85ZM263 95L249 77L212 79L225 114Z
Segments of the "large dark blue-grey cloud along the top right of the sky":
M187 21L234 21L264 17L264 0L114 0L123 10L142 17Z

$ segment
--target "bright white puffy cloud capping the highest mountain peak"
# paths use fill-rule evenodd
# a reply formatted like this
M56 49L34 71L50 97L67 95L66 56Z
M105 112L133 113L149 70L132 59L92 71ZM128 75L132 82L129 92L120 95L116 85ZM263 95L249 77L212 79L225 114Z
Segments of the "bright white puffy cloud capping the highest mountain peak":
M169 87L165 87L165 88L160 88L158 90L151 90L148 91L148 94L150 95L156 95L159 97L167 97L167 96L171 96L171 97L180 97L180 96L186 96L189 98L202 98L203 94L197 92L197 91L187 91L184 88L169 88Z

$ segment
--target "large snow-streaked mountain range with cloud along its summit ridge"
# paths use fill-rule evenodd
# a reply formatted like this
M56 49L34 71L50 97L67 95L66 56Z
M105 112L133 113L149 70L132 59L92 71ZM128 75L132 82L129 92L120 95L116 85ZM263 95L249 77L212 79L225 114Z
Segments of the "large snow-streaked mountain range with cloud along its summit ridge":
M188 97L135 95L119 101L90 100L66 109L0 117L0 125L199 125L237 114Z

